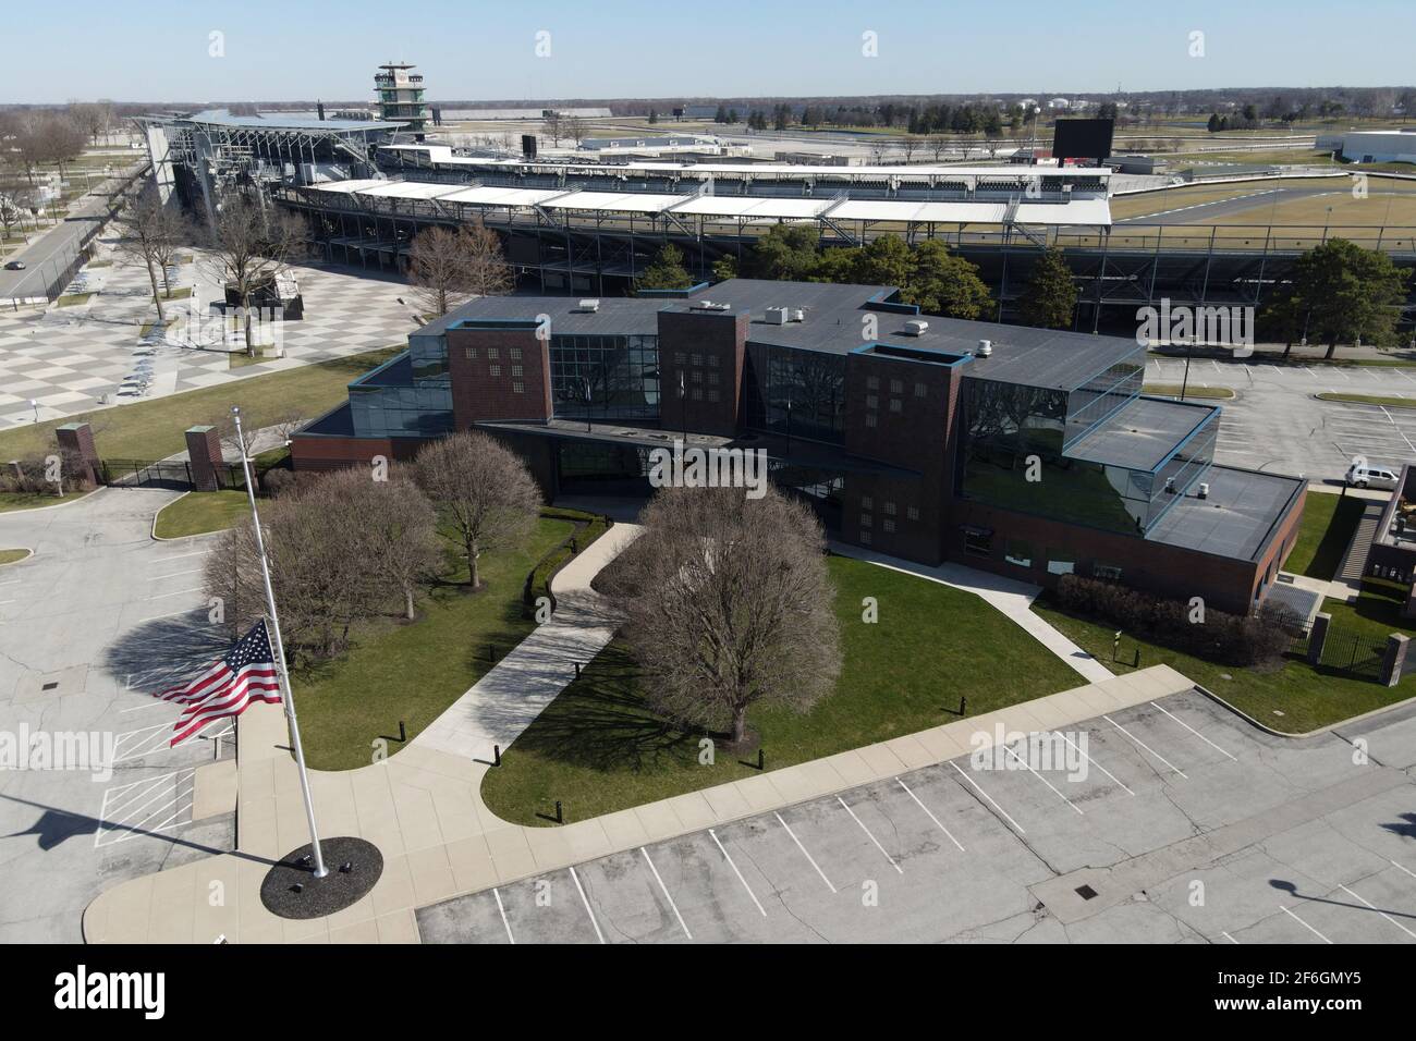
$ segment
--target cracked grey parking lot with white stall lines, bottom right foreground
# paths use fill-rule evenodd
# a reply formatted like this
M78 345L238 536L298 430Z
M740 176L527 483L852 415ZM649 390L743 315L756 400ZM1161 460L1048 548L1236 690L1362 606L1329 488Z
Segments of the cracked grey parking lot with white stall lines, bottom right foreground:
M1293 741L1188 693L1065 735L1085 770L964 756L426 906L418 928L440 943L1416 943L1416 710Z

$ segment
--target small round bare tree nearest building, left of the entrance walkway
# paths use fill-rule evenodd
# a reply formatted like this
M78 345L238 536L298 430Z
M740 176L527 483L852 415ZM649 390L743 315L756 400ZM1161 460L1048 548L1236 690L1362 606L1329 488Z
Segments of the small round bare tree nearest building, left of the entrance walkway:
M419 452L413 472L466 552L472 588L481 581L481 554L530 538L541 491L525 463L500 442L473 431L453 433Z

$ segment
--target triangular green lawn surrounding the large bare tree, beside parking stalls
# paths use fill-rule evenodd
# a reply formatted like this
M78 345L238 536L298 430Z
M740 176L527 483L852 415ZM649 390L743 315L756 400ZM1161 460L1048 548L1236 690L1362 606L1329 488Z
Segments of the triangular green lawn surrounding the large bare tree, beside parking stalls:
M828 567L841 678L809 712L749 710L769 770L950 722L963 694L977 715L1082 684L971 593L845 557ZM877 598L878 623L861 620L865 596ZM481 795L504 820L535 826L556 799L569 820L583 820L756 773L722 751L700 765L701 739L649 711L615 642L503 753Z

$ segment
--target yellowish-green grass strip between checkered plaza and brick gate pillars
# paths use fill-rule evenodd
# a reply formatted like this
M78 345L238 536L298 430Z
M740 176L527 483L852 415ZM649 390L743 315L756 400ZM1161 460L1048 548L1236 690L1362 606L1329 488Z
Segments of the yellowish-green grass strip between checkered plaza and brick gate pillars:
M388 347L93 414L27 423L0 432L0 459L42 455L54 443L55 426L85 419L93 423L99 455L113 459L164 459L176 455L187 446L183 432L188 426L224 419L232 405L241 405L251 429L269 426L292 411L314 419L347 398L344 388L350 380L402 350L404 346Z

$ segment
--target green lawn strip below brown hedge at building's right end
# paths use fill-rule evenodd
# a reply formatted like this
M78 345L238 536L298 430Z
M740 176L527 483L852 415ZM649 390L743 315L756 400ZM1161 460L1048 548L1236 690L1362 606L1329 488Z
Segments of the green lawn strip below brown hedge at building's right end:
M1120 661L1113 663L1112 637L1116 626L1066 615L1042 601L1034 603L1032 609L1113 673L1133 671L1133 654L1138 647L1141 669L1168 664L1239 711L1284 734L1306 734L1416 697L1416 676L1405 677L1396 687L1383 687L1372 680L1344 676L1335 669L1311 669L1296 659L1284 661L1274 671L1260 673L1204 661L1130 635L1121 636Z

